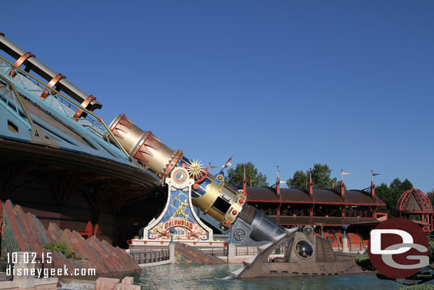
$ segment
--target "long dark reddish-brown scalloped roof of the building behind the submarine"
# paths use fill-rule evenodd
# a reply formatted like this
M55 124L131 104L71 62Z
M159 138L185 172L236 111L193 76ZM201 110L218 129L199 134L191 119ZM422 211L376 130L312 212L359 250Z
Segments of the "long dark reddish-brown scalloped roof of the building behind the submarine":
M238 190L238 187L231 187ZM347 204L347 205L385 205L378 197L371 197L369 192L363 190L346 190L345 197L336 190L314 190L313 197L307 190L301 188L281 188L281 200L273 187L247 187L248 202L294 202L315 204Z

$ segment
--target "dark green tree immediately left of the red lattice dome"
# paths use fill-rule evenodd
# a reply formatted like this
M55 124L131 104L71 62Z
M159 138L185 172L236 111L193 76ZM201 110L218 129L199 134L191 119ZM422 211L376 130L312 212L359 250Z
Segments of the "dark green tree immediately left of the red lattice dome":
M396 217L396 206L398 205L398 200L401 195L407 190L411 190L413 184L410 180L406 179L403 182L396 177L390 186L386 183L381 183L381 185L375 187L375 194L382 200L386 206L379 207L379 212L387 212L389 217Z

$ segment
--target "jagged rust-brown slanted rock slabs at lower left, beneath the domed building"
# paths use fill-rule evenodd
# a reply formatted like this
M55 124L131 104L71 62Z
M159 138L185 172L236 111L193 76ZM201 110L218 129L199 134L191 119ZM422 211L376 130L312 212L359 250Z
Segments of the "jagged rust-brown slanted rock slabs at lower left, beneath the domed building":
M61 252L52 252L56 269L95 269L96 274L137 271L140 267L119 247L112 247L96 237L84 239L78 232L61 230L57 224L50 223L48 229L31 213L7 201L3 207L3 226L1 234L1 256L8 252L36 252L38 257L48 252L44 244L63 243L74 253L67 258Z

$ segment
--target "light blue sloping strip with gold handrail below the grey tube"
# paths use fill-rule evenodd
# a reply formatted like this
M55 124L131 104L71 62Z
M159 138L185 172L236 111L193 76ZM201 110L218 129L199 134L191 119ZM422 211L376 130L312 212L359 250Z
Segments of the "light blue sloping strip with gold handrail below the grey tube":
M12 74L12 71L16 71L16 76ZM90 110L84 108L82 105L77 103L75 100L69 98L68 96L59 93L57 90L47 86L45 83L39 81L37 78L32 76L31 74L23 71L21 68L18 68L13 63L10 63L5 58L0 56L0 74L7 78L9 81L14 83L15 86L20 86L28 93L31 93L39 98L38 96L44 92L49 92L50 98L39 98L44 103L51 106L51 108L55 108L58 112L65 115L66 118L70 120L75 120L78 124L82 125L85 130L92 133L93 135L100 138L102 141L107 143L110 147L116 148L116 150L120 150L123 152L125 157L129 160L129 154L125 151L124 147L120 145L120 143L116 140L116 138L112 135L112 132L104 123L104 121L92 113ZM14 76L12 78L11 76ZM31 81L32 84L28 83ZM71 112L75 112L77 110L83 110L83 115L79 118L73 118L73 114ZM30 122L31 120L29 120Z

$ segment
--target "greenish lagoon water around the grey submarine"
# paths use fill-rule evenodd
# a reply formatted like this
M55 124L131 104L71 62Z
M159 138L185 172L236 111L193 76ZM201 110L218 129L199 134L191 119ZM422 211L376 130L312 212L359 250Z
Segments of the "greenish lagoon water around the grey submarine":
M135 274L134 284L142 286L142 290L277 290L277 289L399 289L400 285L393 281L380 280L375 273L350 274L337 276L301 276L285 279L259 278L235 279L221 281L228 271L240 268L241 265L164 265L142 269ZM125 275L124 275L125 276ZM123 276L117 276L122 278ZM69 282L63 284L61 290L95 289L91 283Z

